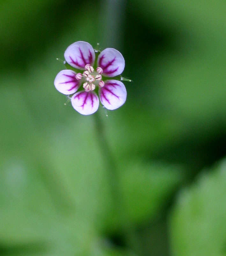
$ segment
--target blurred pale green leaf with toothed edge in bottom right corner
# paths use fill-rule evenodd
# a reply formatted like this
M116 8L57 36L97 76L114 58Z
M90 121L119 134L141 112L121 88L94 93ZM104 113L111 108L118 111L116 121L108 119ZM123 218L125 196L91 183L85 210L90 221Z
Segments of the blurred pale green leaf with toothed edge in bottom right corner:
M170 217L175 256L226 255L226 161L185 188Z

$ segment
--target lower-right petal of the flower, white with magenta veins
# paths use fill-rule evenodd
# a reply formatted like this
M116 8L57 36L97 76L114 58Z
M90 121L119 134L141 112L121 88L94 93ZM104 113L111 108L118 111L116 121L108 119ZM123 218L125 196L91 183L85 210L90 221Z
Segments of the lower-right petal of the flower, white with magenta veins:
M105 108L113 110L121 107L126 101L126 87L118 80L107 80L104 87L100 87L99 96Z

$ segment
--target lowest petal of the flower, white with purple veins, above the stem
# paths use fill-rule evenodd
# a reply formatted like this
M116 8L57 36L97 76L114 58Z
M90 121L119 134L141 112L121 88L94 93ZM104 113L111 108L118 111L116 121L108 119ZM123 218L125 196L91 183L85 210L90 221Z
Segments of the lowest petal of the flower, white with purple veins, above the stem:
M99 99L95 92L77 92L71 97L72 107L82 115L91 115L99 107Z

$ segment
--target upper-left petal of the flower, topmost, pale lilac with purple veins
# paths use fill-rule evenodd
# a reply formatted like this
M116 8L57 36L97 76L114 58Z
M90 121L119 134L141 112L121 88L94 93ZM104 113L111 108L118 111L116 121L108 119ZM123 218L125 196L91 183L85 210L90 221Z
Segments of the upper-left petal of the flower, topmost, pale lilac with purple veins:
M94 63L95 52L91 44L78 41L68 46L64 58L72 67L84 69L86 64Z

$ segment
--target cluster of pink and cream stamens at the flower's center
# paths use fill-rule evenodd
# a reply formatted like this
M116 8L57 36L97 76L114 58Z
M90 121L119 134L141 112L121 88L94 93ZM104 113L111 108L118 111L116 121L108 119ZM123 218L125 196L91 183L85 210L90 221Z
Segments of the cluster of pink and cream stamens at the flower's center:
M99 87L104 86L104 82L102 81L101 74L103 73L103 69L101 67L98 67L96 71L94 71L94 68L90 64L85 65L85 71L83 74L78 73L76 75L77 80L81 80L84 78L85 83L83 84L83 88L86 92L93 91L96 86Z

